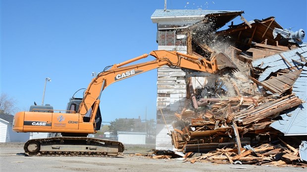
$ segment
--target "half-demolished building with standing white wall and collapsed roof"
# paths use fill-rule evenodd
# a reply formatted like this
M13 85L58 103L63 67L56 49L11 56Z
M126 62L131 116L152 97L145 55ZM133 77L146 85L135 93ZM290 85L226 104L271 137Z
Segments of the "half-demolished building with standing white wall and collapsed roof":
M154 11L158 49L207 59L222 52L237 66L216 75L166 66L158 69L156 149L204 153L236 148L242 158L251 154L243 148L246 145L274 141L298 148L306 137L305 32L283 29L274 17L247 21L243 13ZM243 23L218 31L236 17ZM299 153L283 153L284 159L297 160Z

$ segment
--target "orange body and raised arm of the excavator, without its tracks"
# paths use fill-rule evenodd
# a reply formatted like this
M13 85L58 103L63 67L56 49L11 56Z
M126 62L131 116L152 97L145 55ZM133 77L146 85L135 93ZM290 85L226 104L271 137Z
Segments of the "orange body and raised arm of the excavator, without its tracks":
M155 59L131 64L149 55ZM97 131L95 119L103 89L114 82L163 65L212 74L225 67L235 67L228 56L223 53L216 54L208 61L201 56L187 55L177 51L151 51L149 54L109 66L109 69L99 73L84 92L81 103L76 105L79 106L78 109L73 110L68 107L67 113L18 112L14 117L13 130L16 132L60 132L68 135L95 133Z

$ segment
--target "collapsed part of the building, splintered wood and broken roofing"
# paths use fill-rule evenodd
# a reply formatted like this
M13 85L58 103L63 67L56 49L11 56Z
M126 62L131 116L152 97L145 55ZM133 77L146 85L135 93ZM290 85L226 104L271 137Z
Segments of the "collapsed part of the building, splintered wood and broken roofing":
M278 30L270 30L272 26ZM200 30L196 36L204 34ZM285 115L303 113L306 134L305 35L285 38L280 30L274 17L232 26L212 38L230 38L219 52L188 34L188 53L210 58L222 52L237 68L223 69L211 78L187 75L186 107L175 114L170 133L174 148L186 157L202 154L186 161L307 167L299 155L304 136L284 136L272 127Z

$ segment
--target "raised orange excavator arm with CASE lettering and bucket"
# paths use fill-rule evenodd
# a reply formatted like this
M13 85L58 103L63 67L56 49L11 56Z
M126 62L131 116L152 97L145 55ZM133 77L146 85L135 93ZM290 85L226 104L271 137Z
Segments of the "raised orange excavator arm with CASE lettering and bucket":
M149 55L153 56L155 60L125 66L142 58L146 58ZM214 56L211 58L211 61L208 61L203 57L192 56L177 51L155 50L151 51L149 54L143 54L128 61L114 64L110 69L99 73L97 77L92 80L84 93L84 98L79 108L79 114L85 116L90 111L90 123L94 123L100 103L100 97L105 87L114 82L159 68L163 65L212 74L224 67L234 67L228 57L223 53L217 54L216 57L218 57L218 59ZM220 61L220 64L217 64L217 61Z

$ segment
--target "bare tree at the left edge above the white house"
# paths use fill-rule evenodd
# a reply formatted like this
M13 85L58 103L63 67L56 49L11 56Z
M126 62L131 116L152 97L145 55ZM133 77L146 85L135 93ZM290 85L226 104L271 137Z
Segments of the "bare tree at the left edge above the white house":
M9 97L6 93L1 93L0 96L0 112L12 115L18 109L15 106L16 100Z

